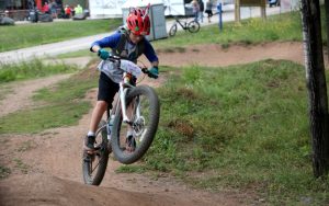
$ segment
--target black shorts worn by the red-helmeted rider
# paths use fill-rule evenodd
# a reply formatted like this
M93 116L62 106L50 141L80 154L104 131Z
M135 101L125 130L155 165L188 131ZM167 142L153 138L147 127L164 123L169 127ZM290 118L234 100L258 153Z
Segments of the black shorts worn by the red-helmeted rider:
M99 79L98 101L105 101L112 105L114 95L118 91L118 83L113 82L105 73L101 72Z

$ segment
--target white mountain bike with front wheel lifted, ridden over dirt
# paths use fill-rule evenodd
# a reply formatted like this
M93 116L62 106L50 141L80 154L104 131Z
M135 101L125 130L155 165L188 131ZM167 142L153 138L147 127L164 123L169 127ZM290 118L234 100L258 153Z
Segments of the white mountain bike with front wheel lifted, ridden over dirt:
M137 78L148 73L147 68L115 56L109 57L109 60L118 64L124 72L114 106L112 110L107 107L106 121L101 121L98 126L95 151L83 151L83 181L91 185L102 182L112 151L114 158L124 164L139 160L154 140L160 116L155 90L148 85L136 85Z

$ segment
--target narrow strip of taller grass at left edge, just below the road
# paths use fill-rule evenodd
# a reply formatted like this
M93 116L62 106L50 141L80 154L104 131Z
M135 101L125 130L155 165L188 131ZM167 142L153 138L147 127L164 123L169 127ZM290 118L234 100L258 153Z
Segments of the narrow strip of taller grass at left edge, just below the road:
M76 71L76 66L65 64L44 64L41 59L22 61L19 64L0 62L0 84L25 79L35 79L57 73L69 73Z

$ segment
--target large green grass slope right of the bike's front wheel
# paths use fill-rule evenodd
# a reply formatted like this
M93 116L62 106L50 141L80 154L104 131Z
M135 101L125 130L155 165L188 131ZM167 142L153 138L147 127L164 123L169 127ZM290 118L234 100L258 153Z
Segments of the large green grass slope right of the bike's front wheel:
M305 84L291 61L184 68L158 90L160 127L145 168L275 205L328 203L328 181L313 178Z

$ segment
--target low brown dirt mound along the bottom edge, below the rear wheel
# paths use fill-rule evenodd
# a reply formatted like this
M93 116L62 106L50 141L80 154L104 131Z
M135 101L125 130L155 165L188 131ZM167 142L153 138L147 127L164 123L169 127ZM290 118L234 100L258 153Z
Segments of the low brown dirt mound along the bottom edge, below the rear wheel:
M13 184L14 187L13 187ZM182 199L179 196L123 192L110 187L86 186L77 182L45 174L10 178L0 186L1 205L116 205L164 206L204 205L200 201Z

